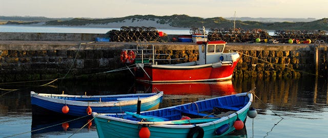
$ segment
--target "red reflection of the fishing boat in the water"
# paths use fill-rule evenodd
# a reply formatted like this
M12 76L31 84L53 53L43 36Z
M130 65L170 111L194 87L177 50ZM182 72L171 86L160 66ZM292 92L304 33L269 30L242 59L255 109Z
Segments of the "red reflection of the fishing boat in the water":
M160 108L191 103L206 98L236 94L232 81L193 82L193 83L139 83L137 91L163 91L163 101Z

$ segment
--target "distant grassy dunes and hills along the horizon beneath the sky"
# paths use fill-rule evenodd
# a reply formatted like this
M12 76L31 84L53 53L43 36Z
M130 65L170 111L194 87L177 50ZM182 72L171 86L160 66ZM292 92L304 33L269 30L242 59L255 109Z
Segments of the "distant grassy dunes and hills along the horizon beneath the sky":
M35 24L37 22L30 22ZM8 22L7 24L20 24L19 22ZM26 24L26 23L21 23ZM152 26L167 28L232 28L233 21L223 17L201 18L188 15L133 15L120 18L73 18L69 20L55 19L46 21L43 25L50 26L101 26L101 27L119 27L119 26ZM148 26L149 25L149 26ZM328 30L328 18L319 19L312 22L258 22L258 21L236 21L237 28L241 29L266 29L266 30Z

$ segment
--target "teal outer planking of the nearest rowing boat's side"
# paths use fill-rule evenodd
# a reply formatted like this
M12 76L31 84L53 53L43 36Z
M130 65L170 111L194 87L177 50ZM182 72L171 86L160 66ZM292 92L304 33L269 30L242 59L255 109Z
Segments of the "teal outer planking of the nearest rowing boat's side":
M241 121L244 121L247 117L247 112L244 114L238 115ZM243 119L244 118L244 119ZM232 119L235 120L235 119ZM136 137L139 138L140 125L122 123L117 121L108 122L107 119L95 118L94 119L97 127L97 133L99 138L105 137ZM222 135L215 135L214 131L218 127L228 124L229 121L222 122L215 125L210 125L202 127L204 130L204 137L221 137L235 130L233 127L233 122L229 124L229 130ZM150 130L150 137L187 137L190 128L161 128L161 127L148 127Z

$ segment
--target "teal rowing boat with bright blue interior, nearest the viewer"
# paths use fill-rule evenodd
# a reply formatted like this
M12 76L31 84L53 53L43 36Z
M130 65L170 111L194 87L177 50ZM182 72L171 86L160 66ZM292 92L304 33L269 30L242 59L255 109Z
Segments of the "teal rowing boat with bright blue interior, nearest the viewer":
M220 137L244 127L252 101L253 94L244 92L139 114L92 115L101 138Z

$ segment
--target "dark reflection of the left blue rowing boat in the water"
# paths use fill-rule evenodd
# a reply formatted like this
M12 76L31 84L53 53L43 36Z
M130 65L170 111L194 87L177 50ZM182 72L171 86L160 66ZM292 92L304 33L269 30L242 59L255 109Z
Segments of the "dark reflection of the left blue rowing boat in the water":
M62 117L55 116L32 115L31 137L71 135L74 133L97 131L94 122L90 121L90 117L66 117L66 119L63 119Z

